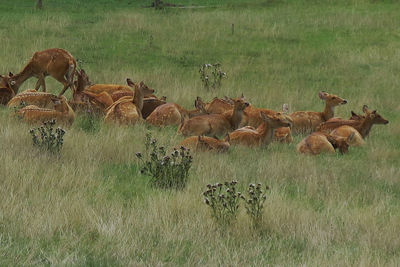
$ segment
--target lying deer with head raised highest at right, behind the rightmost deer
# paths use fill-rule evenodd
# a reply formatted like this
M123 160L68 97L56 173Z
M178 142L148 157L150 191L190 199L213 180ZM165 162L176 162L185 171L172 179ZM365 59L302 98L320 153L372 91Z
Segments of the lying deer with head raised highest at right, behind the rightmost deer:
M296 111L290 114L293 120L292 132L299 134L315 131L322 122L333 118L336 106L347 103L346 99L326 92L319 92L319 98L325 100L325 109L323 112Z

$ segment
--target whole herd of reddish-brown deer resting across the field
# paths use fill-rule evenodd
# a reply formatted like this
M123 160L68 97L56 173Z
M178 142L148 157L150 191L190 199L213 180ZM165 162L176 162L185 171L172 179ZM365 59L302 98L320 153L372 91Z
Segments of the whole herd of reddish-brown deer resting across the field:
M46 93L45 77L49 75L64 85L59 96ZM33 76L38 78L35 89L17 94L21 84ZM364 115L352 112L348 120L335 118L335 107L347 100L326 92L319 92L319 98L325 101L322 112L288 114L287 105L282 112L256 108L243 94L238 98L214 98L209 103L197 97L195 109L187 110L167 103L166 97L156 97L143 82L127 79L127 84L91 84L85 71L76 69L69 52L48 49L36 52L20 73L0 76L0 103L19 108L17 116L30 123L56 119L72 124L75 112L91 110L104 116L107 123L132 125L144 120L158 127L176 125L178 133L188 136L182 146L218 152L227 151L231 145L260 147L274 140L290 143L292 134L307 133L297 145L299 153L335 153L336 149L345 153L349 146L364 143L372 125L389 123L366 105ZM43 92L38 91L40 87ZM68 88L73 91L70 101L63 96Z

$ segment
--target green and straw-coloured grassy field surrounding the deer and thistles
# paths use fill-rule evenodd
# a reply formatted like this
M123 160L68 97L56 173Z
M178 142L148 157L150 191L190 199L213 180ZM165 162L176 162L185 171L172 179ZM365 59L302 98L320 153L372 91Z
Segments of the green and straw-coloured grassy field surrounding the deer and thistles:
M368 0L170 0L202 8L153 10L150 1L0 1L0 73L60 47L95 83L143 80L171 102L242 92L255 106L322 110L320 90L363 104L390 123L346 155L297 155L290 145L195 155L183 191L156 190L135 152L145 133L174 147L175 128L77 118L60 158L32 146L30 126L0 108L0 265L397 266L400 262L400 5ZM232 34L232 24L235 31ZM217 91L201 64L221 62ZM28 80L20 90L32 88ZM61 85L47 79L50 91ZM70 96L68 92L66 94ZM264 221L244 212L218 227L203 204L208 183L268 184Z

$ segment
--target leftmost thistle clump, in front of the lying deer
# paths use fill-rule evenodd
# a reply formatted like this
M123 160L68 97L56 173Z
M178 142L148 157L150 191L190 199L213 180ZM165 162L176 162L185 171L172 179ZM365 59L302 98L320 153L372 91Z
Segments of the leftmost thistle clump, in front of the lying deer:
M44 122L39 128L33 128L29 131L32 135L33 146L51 153L60 153L64 144L65 130L57 127L55 132L54 125L56 120Z

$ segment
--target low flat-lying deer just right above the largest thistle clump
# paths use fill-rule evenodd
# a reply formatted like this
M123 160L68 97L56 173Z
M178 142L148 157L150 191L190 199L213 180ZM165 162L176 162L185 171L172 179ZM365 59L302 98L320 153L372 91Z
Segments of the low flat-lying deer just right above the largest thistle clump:
M230 147L229 135L225 141L208 136L190 136L183 140L180 145L193 151L215 152L227 152Z

